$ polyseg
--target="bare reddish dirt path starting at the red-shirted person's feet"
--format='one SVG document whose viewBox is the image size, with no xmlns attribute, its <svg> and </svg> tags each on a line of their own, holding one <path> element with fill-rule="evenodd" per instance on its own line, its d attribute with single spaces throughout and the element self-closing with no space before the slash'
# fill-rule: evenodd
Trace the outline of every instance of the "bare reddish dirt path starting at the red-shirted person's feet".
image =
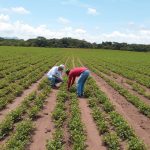
<svg viewBox="0 0 150 150">
<path fill-rule="evenodd" d="M 87 99 L 80 98 L 79 107 L 81 110 L 81 120 L 84 123 L 87 132 L 87 149 L 105 150 L 106 148 L 102 145 L 102 139 L 91 116 L 91 110 L 88 107 Z"/>
</svg>

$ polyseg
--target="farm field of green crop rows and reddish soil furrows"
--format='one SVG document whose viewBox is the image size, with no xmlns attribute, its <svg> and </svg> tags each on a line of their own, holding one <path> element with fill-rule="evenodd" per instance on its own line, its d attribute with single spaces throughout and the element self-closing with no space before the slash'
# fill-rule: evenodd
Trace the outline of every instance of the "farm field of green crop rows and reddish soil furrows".
<svg viewBox="0 0 150 150">
<path fill-rule="evenodd" d="M 48 70 L 85 66 L 85 98 Z M 1 150 L 149 150 L 150 53 L 0 47 Z"/>
</svg>

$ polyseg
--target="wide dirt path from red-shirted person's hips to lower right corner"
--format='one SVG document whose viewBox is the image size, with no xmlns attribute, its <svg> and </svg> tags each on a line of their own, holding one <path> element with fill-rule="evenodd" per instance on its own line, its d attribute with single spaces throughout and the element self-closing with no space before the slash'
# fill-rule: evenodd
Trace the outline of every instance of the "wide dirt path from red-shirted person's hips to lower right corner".
<svg viewBox="0 0 150 150">
<path fill-rule="evenodd" d="M 136 134 L 150 146 L 150 119 L 142 115 L 137 108 L 129 103 L 123 96 L 109 86 L 102 78 L 91 73 L 100 89 L 106 93 L 110 101 L 128 123 L 134 128 Z"/>
</svg>

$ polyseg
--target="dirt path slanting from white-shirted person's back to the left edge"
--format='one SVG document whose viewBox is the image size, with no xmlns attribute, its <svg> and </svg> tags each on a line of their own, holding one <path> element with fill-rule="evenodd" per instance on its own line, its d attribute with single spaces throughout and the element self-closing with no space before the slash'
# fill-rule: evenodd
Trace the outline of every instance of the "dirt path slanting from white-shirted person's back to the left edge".
<svg viewBox="0 0 150 150">
<path fill-rule="evenodd" d="M 37 89 L 38 84 L 41 82 L 41 80 L 44 77 L 45 77 L 45 75 L 40 80 L 38 80 L 36 83 L 33 83 L 28 89 L 24 90 L 22 95 L 17 97 L 16 99 L 14 99 L 14 101 L 12 103 L 8 104 L 5 109 L 0 111 L 0 122 L 6 117 L 6 115 L 10 111 L 12 111 L 15 108 L 17 108 L 28 94 L 30 94 L 31 92 L 33 92 L 33 91 L 35 91 Z"/>
</svg>

